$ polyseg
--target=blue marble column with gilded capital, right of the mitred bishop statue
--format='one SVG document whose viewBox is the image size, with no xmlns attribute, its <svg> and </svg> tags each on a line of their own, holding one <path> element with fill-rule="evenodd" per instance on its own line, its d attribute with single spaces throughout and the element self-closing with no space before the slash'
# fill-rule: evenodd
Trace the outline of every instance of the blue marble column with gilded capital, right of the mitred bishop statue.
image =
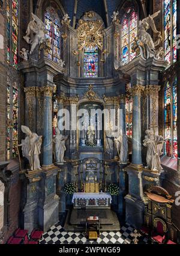
<svg viewBox="0 0 180 256">
<path fill-rule="evenodd" d="M 53 166 L 52 159 L 52 94 L 55 87 L 40 87 L 44 93 L 44 131 L 43 131 L 43 167 L 48 169 Z"/>
</svg>

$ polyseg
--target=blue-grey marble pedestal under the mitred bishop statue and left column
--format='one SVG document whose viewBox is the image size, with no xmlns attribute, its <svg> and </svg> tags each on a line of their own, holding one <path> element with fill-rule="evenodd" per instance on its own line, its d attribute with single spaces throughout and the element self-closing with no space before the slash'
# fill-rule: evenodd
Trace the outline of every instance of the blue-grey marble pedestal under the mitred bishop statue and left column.
<svg viewBox="0 0 180 256">
<path fill-rule="evenodd" d="M 59 196 L 56 195 L 58 168 L 23 172 L 20 226 L 28 229 L 40 228 L 46 232 L 59 220 Z"/>
</svg>

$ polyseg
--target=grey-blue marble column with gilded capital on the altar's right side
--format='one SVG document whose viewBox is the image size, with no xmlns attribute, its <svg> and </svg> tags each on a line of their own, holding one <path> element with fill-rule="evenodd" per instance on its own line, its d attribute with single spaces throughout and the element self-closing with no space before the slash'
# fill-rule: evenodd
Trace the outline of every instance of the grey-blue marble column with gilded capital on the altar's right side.
<svg viewBox="0 0 180 256">
<path fill-rule="evenodd" d="M 133 95 L 133 151 L 132 165 L 142 166 L 142 138 L 141 138 L 141 93 L 143 86 L 137 85 L 131 88 Z"/>
</svg>

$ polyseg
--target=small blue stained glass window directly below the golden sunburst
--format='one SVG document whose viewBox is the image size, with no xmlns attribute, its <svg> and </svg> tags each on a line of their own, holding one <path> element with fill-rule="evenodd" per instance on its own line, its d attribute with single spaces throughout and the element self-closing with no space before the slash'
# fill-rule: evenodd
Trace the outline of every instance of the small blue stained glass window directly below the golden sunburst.
<svg viewBox="0 0 180 256">
<path fill-rule="evenodd" d="M 98 77 L 98 47 L 84 50 L 84 76 Z"/>
</svg>

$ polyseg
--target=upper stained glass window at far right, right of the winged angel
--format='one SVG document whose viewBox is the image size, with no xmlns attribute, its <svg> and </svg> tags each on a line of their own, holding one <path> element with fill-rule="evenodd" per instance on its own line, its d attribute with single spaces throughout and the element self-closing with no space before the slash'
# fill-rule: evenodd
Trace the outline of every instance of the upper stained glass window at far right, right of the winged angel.
<svg viewBox="0 0 180 256">
<path fill-rule="evenodd" d="M 176 61 L 176 0 L 164 0 L 164 57 L 172 64 Z"/>
</svg>

